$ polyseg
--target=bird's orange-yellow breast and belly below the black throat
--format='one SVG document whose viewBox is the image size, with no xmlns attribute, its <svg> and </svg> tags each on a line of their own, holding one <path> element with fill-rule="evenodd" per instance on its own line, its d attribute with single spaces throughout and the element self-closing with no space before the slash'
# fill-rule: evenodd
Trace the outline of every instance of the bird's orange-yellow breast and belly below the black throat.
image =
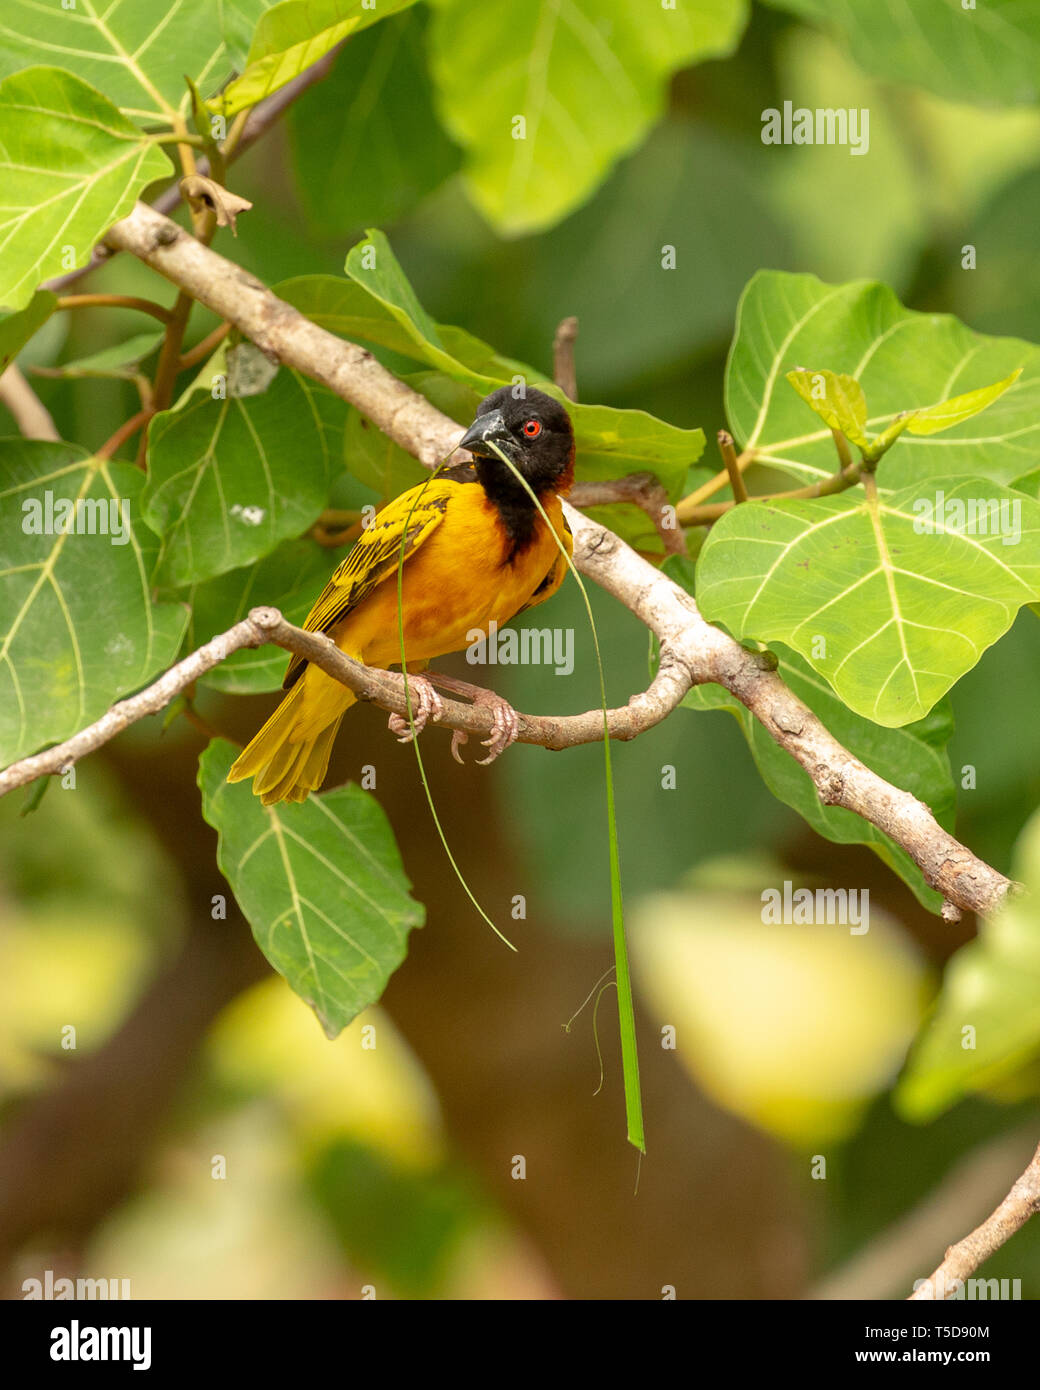
<svg viewBox="0 0 1040 1390">
<path fill-rule="evenodd" d="M 542 500 L 556 535 L 570 550 L 559 498 Z M 498 510 L 478 482 L 459 484 L 439 525 L 405 562 L 405 651 L 409 663 L 457 652 L 487 634 L 491 621 L 507 623 L 531 602 L 551 571 L 538 602 L 559 588 L 564 563 L 556 538 L 541 517 L 533 542 L 512 559 Z M 398 577 L 391 574 L 334 630 L 336 644 L 368 666 L 400 662 Z"/>
</svg>

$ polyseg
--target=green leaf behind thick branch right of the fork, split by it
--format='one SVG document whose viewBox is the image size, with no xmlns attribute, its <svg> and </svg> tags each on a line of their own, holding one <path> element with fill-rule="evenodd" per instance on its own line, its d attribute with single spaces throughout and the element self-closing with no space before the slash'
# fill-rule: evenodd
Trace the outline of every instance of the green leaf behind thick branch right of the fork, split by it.
<svg viewBox="0 0 1040 1390">
<path fill-rule="evenodd" d="M 670 559 L 666 569 L 674 580 L 692 591 L 688 562 L 677 563 Z M 945 746 L 954 731 L 954 720 L 947 701 L 940 701 L 926 719 L 905 728 L 881 728 L 880 724 L 854 714 L 801 656 L 783 648 L 776 655 L 784 682 L 819 716 L 838 742 L 879 776 L 923 801 L 939 823 L 952 830 L 955 798 Z M 726 709 L 734 714 L 762 780 L 774 796 L 794 808 L 824 838 L 841 845 L 869 845 L 879 859 L 909 884 L 926 908 L 940 910 L 941 894 L 929 888 L 907 851 L 862 816 L 843 806 L 824 806 L 805 769 L 769 737 L 734 695 L 722 685 L 697 685 L 685 696 L 683 706 Z"/>
</svg>

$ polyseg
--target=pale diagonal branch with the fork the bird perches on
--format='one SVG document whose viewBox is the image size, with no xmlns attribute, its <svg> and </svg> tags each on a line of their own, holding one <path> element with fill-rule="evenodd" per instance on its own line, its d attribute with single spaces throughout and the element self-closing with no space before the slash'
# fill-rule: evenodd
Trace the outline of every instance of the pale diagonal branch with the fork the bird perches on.
<svg viewBox="0 0 1040 1390">
<path fill-rule="evenodd" d="M 133 253 L 178 289 L 227 318 L 273 361 L 288 363 L 357 406 L 378 430 L 427 467 L 439 463 L 457 443 L 460 427 L 387 371 L 370 352 L 304 318 L 252 274 L 203 246 L 154 208 L 139 203 L 129 217 L 113 227 L 108 242 Z M 1008 878 L 943 830 L 927 806 L 870 771 L 843 748 L 784 685 L 765 657 L 745 651 L 705 623 L 692 598 L 619 537 L 571 506 L 566 506 L 566 516 L 574 534 L 577 567 L 635 613 L 662 645 L 662 666 L 649 689 L 633 696 L 626 709 L 610 713 L 615 737 L 631 738 L 658 723 L 674 709 L 691 684 L 717 681 L 805 769 L 823 805 L 844 806 L 883 830 L 911 855 L 926 881 L 948 903 L 986 913 L 1001 902 L 1011 887 Z M 281 635 L 285 637 L 289 630 L 291 624 L 285 624 Z M 250 642 L 242 645 L 252 645 L 254 635 L 256 630 L 250 632 Z M 331 669 L 328 663 L 346 662 L 331 644 L 321 645 L 323 639 L 316 634 L 302 634 L 293 641 L 303 637 L 318 644 L 314 655 L 304 649 L 309 659 L 352 688 L 361 688 L 355 685 L 355 680 L 360 682 L 359 673 L 348 673 L 348 667 L 339 664 Z M 220 659 L 216 657 L 214 664 Z M 203 664 L 196 674 L 207 669 Z M 368 698 L 378 698 L 385 708 L 403 713 L 400 677 L 387 674 L 380 680 L 384 678 L 395 682 L 393 687 L 382 684 L 377 692 L 373 685 Z M 367 671 L 364 680 L 377 677 Z M 400 703 L 395 705 L 393 699 Z M 457 702 L 445 703 L 442 723 L 466 733 L 489 733 L 484 710 Z M 520 737 L 546 748 L 566 748 L 598 738 L 601 731 L 602 712 L 590 710 L 548 720 L 524 716 Z M 54 752 L 38 756 L 53 759 Z M 32 776 L 39 773 L 29 773 L 29 778 Z"/>
</svg>

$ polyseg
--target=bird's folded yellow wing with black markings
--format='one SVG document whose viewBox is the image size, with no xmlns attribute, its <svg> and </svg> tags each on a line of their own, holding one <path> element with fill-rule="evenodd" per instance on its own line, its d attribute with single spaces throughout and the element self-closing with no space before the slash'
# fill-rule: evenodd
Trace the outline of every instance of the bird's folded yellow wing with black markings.
<svg viewBox="0 0 1040 1390">
<path fill-rule="evenodd" d="M 444 520 L 448 500 L 456 486 L 457 484 L 439 478 L 425 485 L 420 484 L 402 492 L 377 512 L 373 524 L 361 531 L 350 553 L 336 567 L 303 627 L 309 632 L 330 632 L 336 623 L 352 613 L 377 584 L 396 573 L 402 539 L 407 563 Z M 282 689 L 296 684 L 306 664 L 304 656 L 292 657 Z"/>
</svg>

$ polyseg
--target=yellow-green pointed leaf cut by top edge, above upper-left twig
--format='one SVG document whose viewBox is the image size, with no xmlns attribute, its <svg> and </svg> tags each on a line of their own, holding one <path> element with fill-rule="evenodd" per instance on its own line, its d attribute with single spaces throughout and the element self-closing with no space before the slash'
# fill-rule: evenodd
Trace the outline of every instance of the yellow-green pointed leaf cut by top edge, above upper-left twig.
<svg viewBox="0 0 1040 1390">
<path fill-rule="evenodd" d="M 224 115 L 256 106 L 349 35 L 412 4 L 414 0 L 380 0 L 378 7 L 366 0 L 282 0 L 260 18 L 242 76 L 210 106 Z"/>
</svg>

